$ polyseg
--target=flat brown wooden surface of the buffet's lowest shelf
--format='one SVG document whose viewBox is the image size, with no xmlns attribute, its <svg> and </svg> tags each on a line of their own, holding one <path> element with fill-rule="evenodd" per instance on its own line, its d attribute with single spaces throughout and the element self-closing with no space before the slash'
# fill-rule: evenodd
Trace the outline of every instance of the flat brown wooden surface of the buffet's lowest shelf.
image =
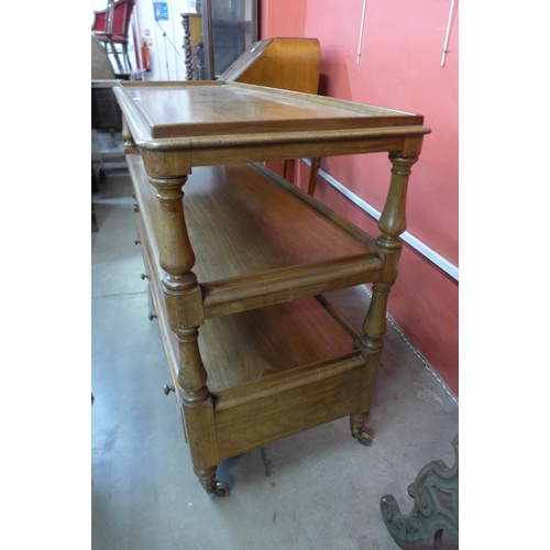
<svg viewBox="0 0 550 550">
<path fill-rule="evenodd" d="M 316 298 L 208 319 L 199 329 L 199 349 L 215 396 L 358 353 L 354 338 Z"/>
</svg>

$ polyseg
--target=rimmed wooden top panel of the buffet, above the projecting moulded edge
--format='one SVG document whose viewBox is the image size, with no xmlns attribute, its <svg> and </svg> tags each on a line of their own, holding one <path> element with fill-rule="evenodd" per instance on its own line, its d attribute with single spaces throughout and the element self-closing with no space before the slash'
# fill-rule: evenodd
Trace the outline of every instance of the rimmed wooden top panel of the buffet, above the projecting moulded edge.
<svg viewBox="0 0 550 550">
<path fill-rule="evenodd" d="M 151 139 L 422 124 L 424 117 L 322 96 L 224 81 L 121 82 Z M 123 108 L 124 109 L 124 108 Z"/>
</svg>

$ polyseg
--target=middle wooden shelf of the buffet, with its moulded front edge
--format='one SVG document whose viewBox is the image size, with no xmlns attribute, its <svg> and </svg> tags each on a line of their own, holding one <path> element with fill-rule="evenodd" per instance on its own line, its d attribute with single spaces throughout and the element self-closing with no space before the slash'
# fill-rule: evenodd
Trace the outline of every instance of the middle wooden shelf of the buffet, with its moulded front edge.
<svg viewBox="0 0 550 550">
<path fill-rule="evenodd" d="M 161 213 L 139 155 L 128 155 L 153 256 Z M 372 282 L 375 241 L 261 165 L 195 168 L 184 186 L 205 318 Z"/>
</svg>

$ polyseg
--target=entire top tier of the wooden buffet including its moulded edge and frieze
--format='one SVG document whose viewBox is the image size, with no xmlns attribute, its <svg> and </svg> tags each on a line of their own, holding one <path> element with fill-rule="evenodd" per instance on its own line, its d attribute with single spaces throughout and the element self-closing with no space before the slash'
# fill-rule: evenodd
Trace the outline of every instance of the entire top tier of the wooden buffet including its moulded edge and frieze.
<svg viewBox="0 0 550 550">
<path fill-rule="evenodd" d="M 430 131 L 419 114 L 240 82 L 129 81 L 114 94 L 142 154 L 178 153 L 169 176 L 191 166 L 400 152 Z M 169 177 L 144 160 L 153 163 L 147 172 Z"/>
</svg>

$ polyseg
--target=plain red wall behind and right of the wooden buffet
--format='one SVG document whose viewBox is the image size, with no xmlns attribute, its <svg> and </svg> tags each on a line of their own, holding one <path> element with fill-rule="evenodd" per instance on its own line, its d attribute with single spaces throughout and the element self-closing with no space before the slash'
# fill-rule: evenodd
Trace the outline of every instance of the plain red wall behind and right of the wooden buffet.
<svg viewBox="0 0 550 550">
<path fill-rule="evenodd" d="M 455 2 L 458 4 L 458 2 Z M 261 38 L 316 37 L 321 44 L 319 92 L 425 116 L 431 134 L 410 176 L 407 231 L 458 266 L 459 133 L 458 6 L 446 64 L 441 57 L 451 0 L 260 0 Z M 387 155 L 323 158 L 321 168 L 383 209 Z M 308 167 L 299 163 L 298 185 Z M 316 198 L 369 232 L 376 222 L 322 178 Z M 388 314 L 447 387 L 459 395 L 459 285 L 405 244 Z"/>
</svg>

